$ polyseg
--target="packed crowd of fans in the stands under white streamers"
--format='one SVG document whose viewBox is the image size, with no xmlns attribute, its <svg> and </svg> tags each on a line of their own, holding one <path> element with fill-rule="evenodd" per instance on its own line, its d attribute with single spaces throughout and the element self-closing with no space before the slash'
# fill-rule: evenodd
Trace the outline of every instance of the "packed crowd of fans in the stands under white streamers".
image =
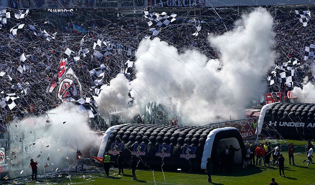
<svg viewBox="0 0 315 185">
<path fill-rule="evenodd" d="M 174 45 L 179 51 L 185 49 L 198 49 L 201 53 L 209 58 L 217 58 L 220 51 L 211 47 L 208 42 L 209 34 L 223 34 L 232 29 L 234 19 L 237 16 L 227 16 L 226 19 L 214 20 L 212 17 L 199 17 L 204 20 L 201 31 L 198 36 L 193 36 L 196 27 L 192 17 L 180 19 L 160 30 L 158 37 Z M 18 30 L 17 35 L 13 39 L 10 38 L 10 29 L 18 24 L 25 24 L 25 31 Z M 89 49 L 86 57 L 81 57 L 79 61 L 68 58 L 67 66 L 72 67 L 77 76 L 82 79 L 80 82 L 83 88 L 83 96 L 95 95 L 90 90 L 95 86 L 93 80 L 89 76 L 89 71 L 97 68 L 100 64 L 106 64 L 108 70 L 105 74 L 104 84 L 109 83 L 110 79 L 125 69 L 125 62 L 129 59 L 122 51 L 112 51 L 110 55 L 101 59 L 92 58 L 93 42 L 98 38 L 105 40 L 114 40 L 130 48 L 137 48 L 138 44 L 146 35 L 150 35 L 149 27 L 142 17 L 125 18 L 121 17 L 117 20 L 109 21 L 105 19 L 89 20 L 86 22 L 73 22 L 81 25 L 87 30 L 87 36 L 84 39 L 83 47 Z M 222 25 L 225 26 L 222 26 Z M 309 22 L 313 24 L 312 19 Z M 29 25 L 39 29 L 46 30 L 49 34 L 57 32 L 57 36 L 50 42 L 43 36 L 36 36 Z M 72 49 L 75 53 L 80 50 L 80 41 L 82 35 L 73 32 L 67 33 L 65 30 L 59 30 L 55 25 L 47 21 L 32 21 L 26 16 L 24 19 L 14 19 L 13 16 L 7 19 L 7 24 L 3 24 L 0 30 L 0 72 L 5 72 L 4 76 L 0 76 L 0 92 L 16 93 L 20 96 L 20 104 L 14 110 L 14 116 L 24 117 L 27 114 L 38 114 L 43 110 L 52 109 L 59 102 L 53 93 L 47 93 L 49 83 L 55 79 L 58 72 L 58 66 L 63 53 L 67 48 Z M 275 17 L 275 45 L 271 48 L 278 53 L 275 64 L 281 64 L 288 61 L 291 57 L 301 60 L 302 64 L 308 63 L 303 60 L 304 47 L 308 43 L 314 41 L 314 30 L 312 26 L 303 27 L 301 23 L 295 19 L 293 14 L 282 12 Z M 134 52 L 134 51 L 133 51 Z M 25 53 L 28 59 L 21 62 L 20 57 Z M 19 66 L 27 64 L 22 72 L 18 71 Z M 310 65 L 301 65 L 297 69 L 297 76 L 300 84 L 304 76 L 312 77 Z M 273 66 L 270 66 L 271 68 Z M 133 78 L 131 72 L 129 79 Z M 312 79 L 311 79 L 312 80 Z M 281 88 L 279 84 L 275 84 L 270 89 L 276 90 Z M 26 111 L 25 111 L 26 110 Z M 12 111 L 0 109 L 1 119 L 7 119 L 7 115 L 13 115 Z"/>
</svg>

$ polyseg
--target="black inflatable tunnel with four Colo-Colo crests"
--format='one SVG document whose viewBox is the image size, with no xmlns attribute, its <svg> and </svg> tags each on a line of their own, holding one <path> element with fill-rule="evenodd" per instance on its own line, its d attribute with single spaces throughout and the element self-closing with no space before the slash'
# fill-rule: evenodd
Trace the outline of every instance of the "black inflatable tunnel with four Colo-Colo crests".
<svg viewBox="0 0 315 185">
<path fill-rule="evenodd" d="M 231 144 L 245 149 L 242 136 L 234 127 L 123 124 L 106 130 L 98 157 L 108 152 L 115 166 L 122 152 L 124 167 L 129 167 L 131 156 L 136 156 L 140 169 L 161 169 L 163 165 L 169 171 L 198 171 L 206 168 L 208 157 L 215 160 Z M 234 162 L 241 160 L 239 150 Z"/>
</svg>

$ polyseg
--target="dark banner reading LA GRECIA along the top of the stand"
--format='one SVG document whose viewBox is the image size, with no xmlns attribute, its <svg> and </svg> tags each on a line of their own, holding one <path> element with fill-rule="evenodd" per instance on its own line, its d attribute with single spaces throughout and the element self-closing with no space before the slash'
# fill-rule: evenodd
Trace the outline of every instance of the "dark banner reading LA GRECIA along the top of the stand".
<svg viewBox="0 0 315 185">
<path fill-rule="evenodd" d="M 205 0 L 148 0 L 149 6 L 166 8 L 166 7 L 202 7 L 205 6 Z"/>
</svg>

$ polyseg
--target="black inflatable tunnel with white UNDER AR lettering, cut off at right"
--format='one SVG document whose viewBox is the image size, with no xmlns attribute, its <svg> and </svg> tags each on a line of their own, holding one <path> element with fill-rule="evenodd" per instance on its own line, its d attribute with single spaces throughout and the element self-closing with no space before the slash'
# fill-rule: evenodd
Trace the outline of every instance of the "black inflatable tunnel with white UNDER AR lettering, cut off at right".
<svg viewBox="0 0 315 185">
<path fill-rule="evenodd" d="M 272 103 L 262 107 L 256 135 L 280 139 L 313 140 L 315 104 Z"/>
</svg>

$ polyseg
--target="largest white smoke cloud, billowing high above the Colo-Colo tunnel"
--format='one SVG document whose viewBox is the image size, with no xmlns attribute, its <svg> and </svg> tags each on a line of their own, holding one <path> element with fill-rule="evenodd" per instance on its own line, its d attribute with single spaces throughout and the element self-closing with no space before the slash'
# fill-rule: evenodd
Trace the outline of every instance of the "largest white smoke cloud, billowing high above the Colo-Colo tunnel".
<svg viewBox="0 0 315 185">
<path fill-rule="evenodd" d="M 263 8 L 235 23 L 235 29 L 220 36 L 210 36 L 209 42 L 221 50 L 219 59 L 209 60 L 194 50 L 179 54 L 159 38 L 144 39 L 137 50 L 135 61 L 136 78 L 130 82 L 135 90 L 135 105 L 132 110 L 143 110 L 149 102 L 170 108 L 176 104 L 187 122 L 207 123 L 220 116 L 229 119 L 240 115 L 253 98 L 265 91 L 261 79 L 273 65 L 269 48 L 273 44 L 273 19 Z M 117 76 L 118 79 L 121 76 Z M 114 82 L 117 84 L 115 85 Z M 119 82 L 119 83 L 118 83 Z M 124 94 L 128 89 L 122 80 L 113 79 L 101 97 Z M 129 88 L 130 89 L 130 88 Z M 108 105 L 108 100 L 97 101 L 99 107 L 126 107 L 127 96 L 119 103 Z M 129 113 L 134 113 L 129 111 Z"/>
</svg>

